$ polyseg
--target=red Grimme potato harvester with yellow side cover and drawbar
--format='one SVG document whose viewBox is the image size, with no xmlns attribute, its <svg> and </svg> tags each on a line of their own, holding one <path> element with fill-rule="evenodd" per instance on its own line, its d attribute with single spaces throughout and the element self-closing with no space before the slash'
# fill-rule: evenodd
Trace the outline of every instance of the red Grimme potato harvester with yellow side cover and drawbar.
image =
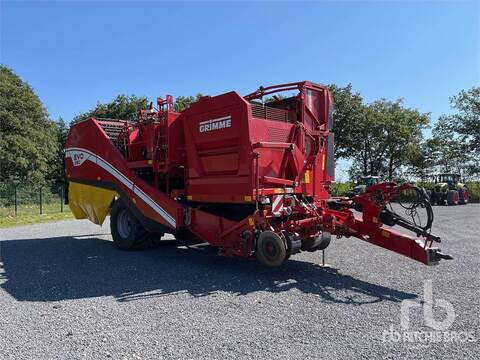
<svg viewBox="0 0 480 360">
<path fill-rule="evenodd" d="M 274 93 L 294 93 L 280 97 Z M 264 96 L 270 100 L 263 102 Z M 328 88 L 303 81 L 240 96 L 204 96 L 173 111 L 173 99 L 135 121 L 90 118 L 70 128 L 68 202 L 76 218 L 102 224 L 110 212 L 124 250 L 165 233 L 202 241 L 225 256 L 279 266 L 331 236 L 356 237 L 427 265 L 451 259 L 432 247 L 433 213 L 423 189 L 380 183 L 332 198 L 334 134 Z M 416 193 L 400 216 L 392 200 Z M 400 207 L 401 208 L 401 207 Z M 424 223 L 418 210 L 426 212 Z M 392 229 L 402 226 L 415 235 Z"/>
</svg>

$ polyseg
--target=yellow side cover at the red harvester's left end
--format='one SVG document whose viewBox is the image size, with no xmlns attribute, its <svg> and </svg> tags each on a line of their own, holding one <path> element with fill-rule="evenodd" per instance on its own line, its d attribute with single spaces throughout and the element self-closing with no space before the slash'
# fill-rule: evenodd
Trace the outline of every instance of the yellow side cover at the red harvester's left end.
<svg viewBox="0 0 480 360">
<path fill-rule="evenodd" d="M 76 219 L 89 219 L 102 225 L 116 194 L 114 190 L 71 182 L 68 186 L 68 205 Z"/>
</svg>

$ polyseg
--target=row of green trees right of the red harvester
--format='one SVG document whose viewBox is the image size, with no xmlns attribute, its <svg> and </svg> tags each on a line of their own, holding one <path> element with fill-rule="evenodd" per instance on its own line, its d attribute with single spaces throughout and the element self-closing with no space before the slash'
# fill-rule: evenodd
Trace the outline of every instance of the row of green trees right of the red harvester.
<svg viewBox="0 0 480 360">
<path fill-rule="evenodd" d="M 438 172 L 480 173 L 480 87 L 450 98 L 452 115 L 431 125 L 430 114 L 407 108 L 401 99 L 366 104 L 352 86 L 331 90 L 335 105 L 337 159 L 348 159 L 351 178 L 426 180 Z M 431 136 L 424 136 L 431 129 Z"/>
</svg>

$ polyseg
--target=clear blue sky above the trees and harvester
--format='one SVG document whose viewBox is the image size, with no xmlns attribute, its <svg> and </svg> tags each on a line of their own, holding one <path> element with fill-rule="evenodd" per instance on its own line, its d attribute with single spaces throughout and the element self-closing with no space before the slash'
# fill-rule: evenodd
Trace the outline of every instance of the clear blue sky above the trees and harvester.
<svg viewBox="0 0 480 360">
<path fill-rule="evenodd" d="M 1 2 L 1 63 L 69 121 L 117 94 L 310 79 L 449 112 L 480 84 L 480 2 Z"/>
</svg>

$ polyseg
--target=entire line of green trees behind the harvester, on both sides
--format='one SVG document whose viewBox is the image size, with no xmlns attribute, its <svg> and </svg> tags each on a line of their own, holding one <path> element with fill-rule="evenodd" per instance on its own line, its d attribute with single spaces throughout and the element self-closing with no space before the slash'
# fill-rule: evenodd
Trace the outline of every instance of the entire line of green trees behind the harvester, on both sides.
<svg viewBox="0 0 480 360">
<path fill-rule="evenodd" d="M 452 115 L 431 126 L 430 114 L 405 107 L 402 100 L 365 103 L 352 85 L 331 85 L 334 97 L 336 158 L 351 163 L 351 178 L 379 175 L 386 180 L 424 179 L 435 172 L 480 174 L 480 87 L 451 98 Z M 179 96 L 182 111 L 202 94 Z M 119 95 L 112 102 L 71 119 L 134 119 L 148 99 Z M 27 185 L 64 182 L 64 144 L 69 125 L 51 119 L 34 90 L 11 69 L 0 66 L 0 182 Z"/>
</svg>

